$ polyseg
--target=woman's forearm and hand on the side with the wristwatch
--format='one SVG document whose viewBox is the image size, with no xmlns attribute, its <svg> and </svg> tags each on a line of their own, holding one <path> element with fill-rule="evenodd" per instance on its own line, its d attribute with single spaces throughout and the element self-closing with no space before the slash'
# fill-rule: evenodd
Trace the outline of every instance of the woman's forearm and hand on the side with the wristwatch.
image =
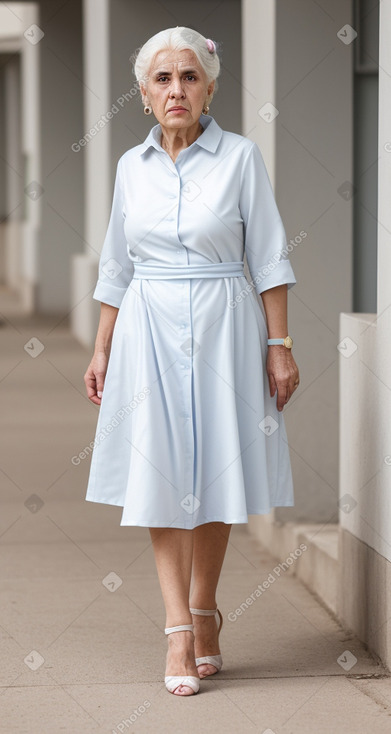
<svg viewBox="0 0 391 734">
<path fill-rule="evenodd" d="M 260 293 L 265 307 L 268 338 L 288 335 L 288 287 L 287 284 L 268 288 Z M 299 370 L 292 350 L 283 344 L 269 344 L 266 360 L 270 395 L 277 390 L 277 409 L 282 410 L 299 382 Z M 295 385 L 296 383 L 296 385 Z"/>
</svg>

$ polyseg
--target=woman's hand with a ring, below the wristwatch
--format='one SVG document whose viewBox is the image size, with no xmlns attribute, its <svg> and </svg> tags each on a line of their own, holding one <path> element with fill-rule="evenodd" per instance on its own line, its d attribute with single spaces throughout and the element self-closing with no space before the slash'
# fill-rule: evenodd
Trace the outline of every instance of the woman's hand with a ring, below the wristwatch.
<svg viewBox="0 0 391 734">
<path fill-rule="evenodd" d="M 266 372 L 270 395 L 277 390 L 277 409 L 282 410 L 299 384 L 299 370 L 290 349 L 283 344 L 268 346 Z"/>
</svg>

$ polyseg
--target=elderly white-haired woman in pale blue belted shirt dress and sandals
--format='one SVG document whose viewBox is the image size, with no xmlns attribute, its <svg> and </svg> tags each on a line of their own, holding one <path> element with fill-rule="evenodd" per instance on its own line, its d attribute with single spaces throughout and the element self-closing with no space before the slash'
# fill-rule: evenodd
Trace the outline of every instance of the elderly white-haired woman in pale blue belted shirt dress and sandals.
<svg viewBox="0 0 391 734">
<path fill-rule="evenodd" d="M 216 44 L 168 28 L 134 71 L 158 124 L 117 165 L 84 376 L 100 405 L 86 499 L 149 528 L 165 683 L 189 695 L 222 666 L 216 589 L 232 524 L 294 504 L 282 410 L 299 384 L 296 279 L 258 146 L 208 114 Z"/>
</svg>

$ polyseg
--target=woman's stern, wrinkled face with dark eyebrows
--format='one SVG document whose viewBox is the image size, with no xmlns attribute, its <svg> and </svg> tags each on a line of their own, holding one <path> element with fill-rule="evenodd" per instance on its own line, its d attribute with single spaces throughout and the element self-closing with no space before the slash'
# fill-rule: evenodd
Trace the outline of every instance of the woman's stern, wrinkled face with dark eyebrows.
<svg viewBox="0 0 391 734">
<path fill-rule="evenodd" d="M 190 49 L 159 51 L 147 84 L 140 82 L 143 101 L 167 128 L 187 128 L 197 122 L 213 87 L 214 81 L 208 86 L 206 74 Z"/>
</svg>

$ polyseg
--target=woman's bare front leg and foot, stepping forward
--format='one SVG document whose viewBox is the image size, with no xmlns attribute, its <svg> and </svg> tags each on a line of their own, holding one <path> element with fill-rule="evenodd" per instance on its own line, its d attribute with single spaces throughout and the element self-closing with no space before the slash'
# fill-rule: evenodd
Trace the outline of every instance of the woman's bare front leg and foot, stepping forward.
<svg viewBox="0 0 391 734">
<path fill-rule="evenodd" d="M 193 554 L 193 530 L 180 528 L 149 528 L 160 588 L 166 608 L 166 627 L 192 624 L 189 592 Z M 166 675 L 194 675 L 194 635 L 189 630 L 167 636 Z M 189 686 L 179 686 L 176 695 L 190 695 Z"/>
</svg>

